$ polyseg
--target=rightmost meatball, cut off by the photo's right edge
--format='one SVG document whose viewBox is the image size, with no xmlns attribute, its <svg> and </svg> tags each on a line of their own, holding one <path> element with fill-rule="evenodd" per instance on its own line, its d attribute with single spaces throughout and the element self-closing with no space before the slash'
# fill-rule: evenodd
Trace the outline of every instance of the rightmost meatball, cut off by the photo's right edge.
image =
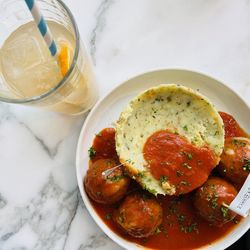
<svg viewBox="0 0 250 250">
<path fill-rule="evenodd" d="M 243 137 L 226 139 L 218 171 L 232 183 L 242 185 L 250 173 L 250 140 Z"/>
</svg>

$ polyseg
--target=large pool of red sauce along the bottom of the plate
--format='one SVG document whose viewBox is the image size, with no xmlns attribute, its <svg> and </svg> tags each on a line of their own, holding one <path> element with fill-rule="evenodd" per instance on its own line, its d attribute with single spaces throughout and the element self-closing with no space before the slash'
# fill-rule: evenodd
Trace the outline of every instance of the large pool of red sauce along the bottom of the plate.
<svg viewBox="0 0 250 250">
<path fill-rule="evenodd" d="M 105 224 L 120 237 L 150 249 L 181 250 L 204 247 L 219 240 L 236 226 L 239 218 L 223 227 L 210 226 L 195 214 L 192 195 L 180 198 L 157 198 L 163 207 L 163 224 L 159 232 L 147 239 L 136 239 L 123 232 L 112 220 L 112 212 L 116 206 L 104 206 L 91 201 L 95 211 Z"/>
</svg>

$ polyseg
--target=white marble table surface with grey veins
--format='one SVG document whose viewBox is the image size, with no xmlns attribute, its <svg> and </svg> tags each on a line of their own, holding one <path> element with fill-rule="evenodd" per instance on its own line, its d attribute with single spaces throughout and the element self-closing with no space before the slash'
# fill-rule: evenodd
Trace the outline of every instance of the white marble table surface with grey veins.
<svg viewBox="0 0 250 250">
<path fill-rule="evenodd" d="M 100 95 L 132 75 L 185 68 L 250 104 L 249 0 L 65 0 Z M 86 116 L 0 104 L 0 249 L 120 249 L 78 192 L 75 153 Z"/>
</svg>

